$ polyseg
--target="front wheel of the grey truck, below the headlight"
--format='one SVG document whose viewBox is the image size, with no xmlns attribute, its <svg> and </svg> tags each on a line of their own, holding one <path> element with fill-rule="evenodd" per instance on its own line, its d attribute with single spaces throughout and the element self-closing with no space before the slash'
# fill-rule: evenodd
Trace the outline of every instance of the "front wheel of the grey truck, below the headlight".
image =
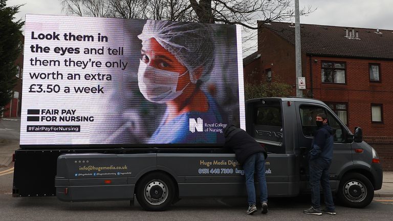
<svg viewBox="0 0 393 221">
<path fill-rule="evenodd" d="M 360 173 L 348 173 L 340 181 L 338 197 L 347 207 L 363 208 L 373 201 L 374 186 Z"/>
</svg>

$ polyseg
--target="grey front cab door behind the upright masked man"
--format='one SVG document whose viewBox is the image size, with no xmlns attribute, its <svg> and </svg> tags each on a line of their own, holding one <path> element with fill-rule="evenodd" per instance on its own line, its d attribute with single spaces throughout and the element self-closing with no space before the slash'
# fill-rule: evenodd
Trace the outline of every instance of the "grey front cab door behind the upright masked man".
<svg viewBox="0 0 393 221">
<path fill-rule="evenodd" d="M 340 171 L 348 164 L 353 164 L 351 143 L 347 142 L 346 139 L 346 135 L 349 131 L 327 106 L 310 104 L 307 102 L 296 102 L 296 109 L 298 118 L 298 146 L 295 146 L 295 148 L 300 148 L 300 180 L 308 181 L 309 179 L 308 153 L 317 129 L 315 119 L 317 114 L 324 113 L 328 116 L 329 125 L 334 129 L 334 149 L 332 164 L 330 166 L 330 180 L 332 190 L 335 190 L 338 188 L 338 176 Z"/>
</svg>

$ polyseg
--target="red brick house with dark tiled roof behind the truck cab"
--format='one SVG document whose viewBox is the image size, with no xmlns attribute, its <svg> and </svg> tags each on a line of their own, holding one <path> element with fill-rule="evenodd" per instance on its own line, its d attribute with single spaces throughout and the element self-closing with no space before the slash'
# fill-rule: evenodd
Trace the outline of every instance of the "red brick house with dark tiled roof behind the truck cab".
<svg viewBox="0 0 393 221">
<path fill-rule="evenodd" d="M 244 58 L 245 81 L 295 84 L 295 27 L 258 23 L 258 50 Z M 304 97 L 322 100 L 393 170 L 393 30 L 301 24 Z"/>
</svg>

